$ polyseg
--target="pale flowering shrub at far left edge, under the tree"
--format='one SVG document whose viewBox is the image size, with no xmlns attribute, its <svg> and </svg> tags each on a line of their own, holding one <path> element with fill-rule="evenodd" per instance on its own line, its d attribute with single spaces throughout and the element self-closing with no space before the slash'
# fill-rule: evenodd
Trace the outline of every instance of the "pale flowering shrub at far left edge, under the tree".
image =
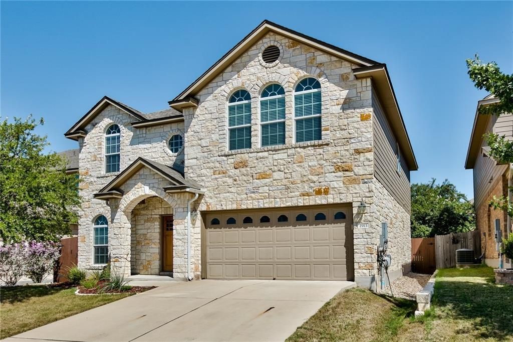
<svg viewBox="0 0 513 342">
<path fill-rule="evenodd" d="M 26 248 L 23 243 L 0 246 L 0 280 L 14 286 L 26 271 Z"/>
</svg>

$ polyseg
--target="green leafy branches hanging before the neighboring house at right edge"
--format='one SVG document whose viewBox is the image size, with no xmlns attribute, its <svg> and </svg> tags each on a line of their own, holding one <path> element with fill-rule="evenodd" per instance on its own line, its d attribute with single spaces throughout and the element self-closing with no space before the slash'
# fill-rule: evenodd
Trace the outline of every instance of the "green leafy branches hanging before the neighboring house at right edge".
<svg viewBox="0 0 513 342">
<path fill-rule="evenodd" d="M 468 59 L 466 62 L 468 75 L 476 88 L 485 89 L 499 99 L 499 102 L 480 106 L 479 114 L 500 117 L 513 113 L 513 74 L 508 75 L 501 72 L 495 62 L 483 63 L 478 55 L 473 60 Z M 485 134 L 484 139 L 490 147 L 490 157 L 501 163 L 513 163 L 513 141 L 508 141 L 504 136 L 493 132 Z M 509 190 L 512 189 L 509 188 Z M 507 196 L 494 196 L 490 204 L 496 209 L 505 211 L 509 217 L 513 217 L 513 204 Z"/>
</svg>

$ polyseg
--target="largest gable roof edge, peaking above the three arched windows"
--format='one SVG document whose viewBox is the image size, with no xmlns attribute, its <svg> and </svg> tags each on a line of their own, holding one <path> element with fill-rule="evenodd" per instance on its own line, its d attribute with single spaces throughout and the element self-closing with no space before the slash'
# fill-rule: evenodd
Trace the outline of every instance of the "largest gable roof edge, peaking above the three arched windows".
<svg viewBox="0 0 513 342">
<path fill-rule="evenodd" d="M 368 58 L 365 58 L 364 56 L 341 49 L 339 47 L 325 43 L 303 33 L 275 24 L 268 20 L 264 20 L 259 26 L 257 26 L 251 32 L 249 32 L 249 34 L 246 35 L 238 44 L 236 44 L 224 56 L 222 56 L 221 59 L 215 62 L 210 68 L 208 68 L 207 71 L 205 71 L 198 79 L 196 79 L 192 84 L 190 84 L 184 91 L 178 94 L 178 96 L 176 96 L 173 100 L 169 101 L 170 106 L 174 107 L 176 103 L 181 103 L 185 99 L 193 98 L 195 94 L 200 89 L 202 89 L 206 84 L 208 84 L 208 82 L 214 79 L 216 75 L 219 74 L 219 72 L 224 70 L 234 60 L 239 58 L 239 56 L 242 53 L 244 53 L 249 47 L 251 47 L 257 41 L 259 41 L 269 31 L 279 33 L 292 40 L 301 42 L 303 44 L 309 45 L 313 48 L 319 49 L 331 55 L 335 55 L 342 59 L 351 61 L 362 67 L 379 64 L 379 62 L 370 60 Z M 176 109 L 180 110 L 179 107 L 176 107 Z"/>
</svg>

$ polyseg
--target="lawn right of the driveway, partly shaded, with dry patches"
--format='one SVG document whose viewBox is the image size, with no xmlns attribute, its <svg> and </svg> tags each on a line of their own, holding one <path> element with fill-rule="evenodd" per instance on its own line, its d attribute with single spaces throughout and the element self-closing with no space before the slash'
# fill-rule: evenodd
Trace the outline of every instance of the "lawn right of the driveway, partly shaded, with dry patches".
<svg viewBox="0 0 513 342">
<path fill-rule="evenodd" d="M 288 340 L 513 341 L 513 286 L 494 271 L 440 270 L 432 308 L 416 318 L 416 303 L 353 289 L 328 301 Z"/>
</svg>

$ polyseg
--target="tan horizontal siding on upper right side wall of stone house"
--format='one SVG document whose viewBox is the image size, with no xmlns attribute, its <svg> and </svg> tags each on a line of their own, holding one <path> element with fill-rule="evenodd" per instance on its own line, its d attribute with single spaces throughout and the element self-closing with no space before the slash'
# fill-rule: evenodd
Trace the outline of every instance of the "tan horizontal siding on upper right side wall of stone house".
<svg viewBox="0 0 513 342">
<path fill-rule="evenodd" d="M 374 140 L 374 176 L 409 213 L 411 208 L 410 173 L 400 151 L 401 170 L 397 172 L 397 140 L 386 119 L 376 92 L 372 91 L 372 136 Z"/>
</svg>

